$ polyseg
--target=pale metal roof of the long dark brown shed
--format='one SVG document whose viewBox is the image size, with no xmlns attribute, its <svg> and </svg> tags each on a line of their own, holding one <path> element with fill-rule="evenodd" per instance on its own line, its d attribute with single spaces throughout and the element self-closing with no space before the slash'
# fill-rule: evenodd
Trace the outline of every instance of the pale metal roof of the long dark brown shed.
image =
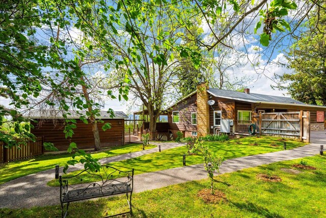
<svg viewBox="0 0 326 218">
<path fill-rule="evenodd" d="M 74 111 L 74 110 L 68 110 L 70 114 L 67 114 L 68 118 L 79 118 L 80 115 L 86 115 L 86 111 Z M 100 119 L 124 119 L 128 118 L 128 116 L 122 112 L 122 111 L 114 111 L 114 117 L 110 117 L 110 113 L 107 113 L 107 111 L 100 111 L 100 116 L 97 116 L 96 118 Z M 26 118 L 42 118 L 42 119 L 62 119 L 62 111 L 61 110 L 29 110 L 26 115 L 24 115 Z"/>
</svg>

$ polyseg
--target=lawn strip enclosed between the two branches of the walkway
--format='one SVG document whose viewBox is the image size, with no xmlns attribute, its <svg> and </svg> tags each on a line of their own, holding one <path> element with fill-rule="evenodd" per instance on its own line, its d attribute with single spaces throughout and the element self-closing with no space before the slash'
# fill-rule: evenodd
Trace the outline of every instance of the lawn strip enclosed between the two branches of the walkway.
<svg viewBox="0 0 326 218">
<path fill-rule="evenodd" d="M 279 146 L 271 146 L 271 144 L 278 144 Z M 231 159 L 242 156 L 263 154 L 269 152 L 276 152 L 283 150 L 283 140 L 279 137 L 246 137 L 240 139 L 231 139 L 224 142 L 205 142 L 209 146 L 211 152 L 216 155 L 222 155 L 225 159 Z M 257 145 L 254 145 L 257 144 Z M 304 146 L 307 143 L 295 140 L 286 139 L 287 149 L 293 149 Z M 182 155 L 187 152 L 185 146 L 174 149 L 156 152 L 144 155 L 137 158 L 127 159 L 119 162 L 111 162 L 108 165 L 116 167 L 121 171 L 128 171 L 134 168 L 135 175 L 161 171 L 164 169 L 175 168 L 182 166 Z M 202 156 L 188 155 L 186 157 L 186 165 L 194 165 L 203 163 Z M 70 173 L 76 175 L 80 171 Z M 84 182 L 91 182 L 94 180 L 84 180 Z M 80 183 L 78 179 L 70 180 L 70 184 Z M 59 186 L 59 182 L 51 180 L 48 182 L 50 186 Z"/>
</svg>

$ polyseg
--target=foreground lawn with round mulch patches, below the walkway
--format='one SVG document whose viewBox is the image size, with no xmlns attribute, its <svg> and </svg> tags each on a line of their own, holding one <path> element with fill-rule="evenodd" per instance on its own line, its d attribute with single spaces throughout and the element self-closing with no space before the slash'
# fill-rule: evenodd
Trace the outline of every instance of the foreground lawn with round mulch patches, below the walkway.
<svg viewBox="0 0 326 218">
<path fill-rule="evenodd" d="M 288 173 L 293 164 L 304 160 L 316 170 L 298 169 Z M 282 161 L 243 169 L 215 177 L 215 188 L 227 200 L 207 204 L 197 193 L 209 187 L 207 179 L 172 185 L 132 195 L 133 217 L 325 217 L 325 156 Z M 265 182 L 257 178 L 266 173 L 279 176 L 281 182 Z M 95 201 L 74 202 L 71 217 L 101 217 L 127 210 L 125 196 Z M 59 217 L 60 206 L 29 209 L 0 209 L 0 217 Z M 129 217 L 129 216 L 128 216 Z"/>
</svg>

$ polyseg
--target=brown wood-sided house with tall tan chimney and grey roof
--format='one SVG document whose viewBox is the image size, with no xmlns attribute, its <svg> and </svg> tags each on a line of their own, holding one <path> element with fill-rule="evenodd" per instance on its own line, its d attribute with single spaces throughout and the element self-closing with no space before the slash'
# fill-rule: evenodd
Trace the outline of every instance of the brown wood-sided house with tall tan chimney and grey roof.
<svg viewBox="0 0 326 218">
<path fill-rule="evenodd" d="M 296 126 L 300 127 L 303 125 L 302 117 L 310 122 L 308 132 L 323 130 L 326 107 L 307 105 L 286 97 L 251 93 L 248 88 L 244 89 L 244 92 L 238 92 L 209 88 L 207 83 L 202 83 L 197 86 L 197 91 L 185 96 L 166 110 L 168 111 L 169 132 L 176 137 L 176 132 L 181 131 L 187 137 L 217 133 L 221 131 L 221 122 L 224 124 L 225 120 L 229 124 L 230 134 L 248 134 L 252 123 L 256 122 L 257 126 L 261 124 L 255 120 L 259 117 L 259 113 L 265 115 L 274 113 L 275 115 L 271 114 L 270 118 L 262 119 L 262 121 L 267 123 L 265 127 L 268 128 L 265 129 L 273 131 L 276 128 L 270 126 L 272 119 L 282 123 L 284 127 L 278 129 L 281 135 L 288 134 L 284 131 L 295 132 L 290 122 L 296 122 Z M 307 114 L 306 111 L 308 111 Z M 288 118 L 287 120 L 282 118 L 281 120 L 281 118 L 276 118 L 280 112 L 283 117 L 284 114 L 290 114 L 290 116 L 295 115 L 301 118 Z M 293 128 L 288 128 L 289 126 Z"/>
</svg>

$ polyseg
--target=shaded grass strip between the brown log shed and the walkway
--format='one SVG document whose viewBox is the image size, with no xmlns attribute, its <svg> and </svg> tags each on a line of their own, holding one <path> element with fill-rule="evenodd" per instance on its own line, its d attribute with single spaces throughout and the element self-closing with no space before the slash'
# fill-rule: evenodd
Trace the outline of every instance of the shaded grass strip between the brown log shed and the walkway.
<svg viewBox="0 0 326 218">
<path fill-rule="evenodd" d="M 155 148 L 154 145 L 146 146 L 146 149 Z M 115 147 L 98 153 L 93 153 L 92 156 L 97 159 L 112 157 L 132 152 L 143 150 L 143 144 L 127 144 L 121 147 Z M 0 184 L 11 181 L 13 179 L 34 174 L 46 169 L 53 169 L 55 165 L 65 165 L 70 160 L 71 154 L 49 154 L 40 155 L 32 159 L 14 161 L 0 165 Z"/>
</svg>

